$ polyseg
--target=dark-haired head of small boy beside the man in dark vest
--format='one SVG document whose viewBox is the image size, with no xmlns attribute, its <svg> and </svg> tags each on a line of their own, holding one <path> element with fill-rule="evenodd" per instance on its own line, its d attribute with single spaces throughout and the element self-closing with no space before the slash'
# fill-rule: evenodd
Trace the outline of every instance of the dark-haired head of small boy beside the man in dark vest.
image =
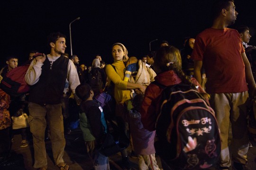
<svg viewBox="0 0 256 170">
<path fill-rule="evenodd" d="M 75 93 L 80 99 L 82 99 L 82 101 L 87 100 L 90 97 L 90 95 L 91 97 L 93 97 L 93 91 L 91 90 L 91 86 L 87 83 L 83 85 L 78 85 L 75 88 Z"/>
</svg>

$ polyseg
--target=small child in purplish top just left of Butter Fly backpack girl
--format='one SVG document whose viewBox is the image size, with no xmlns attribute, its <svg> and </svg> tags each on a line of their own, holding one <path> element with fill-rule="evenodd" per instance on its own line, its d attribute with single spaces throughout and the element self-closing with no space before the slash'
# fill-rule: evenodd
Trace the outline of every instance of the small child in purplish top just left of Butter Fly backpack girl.
<svg viewBox="0 0 256 170">
<path fill-rule="evenodd" d="M 133 148 L 138 157 L 140 170 L 160 170 L 155 160 L 155 131 L 146 130 L 140 121 L 140 107 L 144 95 L 137 94 L 132 100 L 128 123 L 133 140 Z"/>
</svg>

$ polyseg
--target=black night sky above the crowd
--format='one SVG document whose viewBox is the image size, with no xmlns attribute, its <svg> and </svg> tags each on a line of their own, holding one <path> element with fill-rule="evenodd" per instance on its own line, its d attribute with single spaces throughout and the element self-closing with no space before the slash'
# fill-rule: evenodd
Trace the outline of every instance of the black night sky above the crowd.
<svg viewBox="0 0 256 170">
<path fill-rule="evenodd" d="M 31 50 L 49 53 L 46 36 L 62 32 L 67 36 L 66 52 L 70 54 L 69 24 L 73 54 L 80 64 L 91 65 L 97 53 L 112 62 L 111 46 L 123 43 L 128 56 L 142 57 L 159 42 L 167 40 L 181 49 L 183 38 L 196 36 L 211 26 L 212 0 L 4 0 L 0 2 L 0 66 L 5 58 L 16 55 L 19 64 L 28 59 Z M 236 0 L 238 18 L 230 28 L 250 27 L 249 44 L 256 45 L 256 0 Z"/>
</svg>

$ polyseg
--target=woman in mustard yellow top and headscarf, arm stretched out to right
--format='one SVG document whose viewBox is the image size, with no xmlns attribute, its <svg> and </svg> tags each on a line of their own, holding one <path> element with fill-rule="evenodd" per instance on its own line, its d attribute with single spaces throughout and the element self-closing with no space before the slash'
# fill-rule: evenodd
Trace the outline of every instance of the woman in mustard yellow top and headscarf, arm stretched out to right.
<svg viewBox="0 0 256 170">
<path fill-rule="evenodd" d="M 112 56 L 114 62 L 106 66 L 106 73 L 108 76 L 108 85 L 112 81 L 115 84 L 114 97 L 116 104 L 116 119 L 121 133 L 127 132 L 125 118 L 128 116 L 128 110 L 126 104 L 130 97 L 130 89 L 136 90 L 137 93 L 144 93 L 146 86 L 136 83 L 129 83 L 124 81 L 124 61 L 128 59 L 128 51 L 126 47 L 121 43 L 115 43 L 112 45 Z M 122 168 L 129 170 L 130 165 L 128 162 L 126 149 L 121 152 L 122 154 Z"/>
</svg>

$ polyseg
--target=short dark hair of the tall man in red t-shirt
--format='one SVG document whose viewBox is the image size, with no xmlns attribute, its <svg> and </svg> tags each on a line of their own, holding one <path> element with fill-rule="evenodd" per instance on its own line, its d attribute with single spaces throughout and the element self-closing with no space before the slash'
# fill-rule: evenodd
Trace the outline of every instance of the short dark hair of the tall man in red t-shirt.
<svg viewBox="0 0 256 170">
<path fill-rule="evenodd" d="M 230 5 L 229 2 L 234 2 L 234 0 L 215 0 L 213 2 L 213 5 L 211 7 L 212 20 L 219 17 L 219 14 L 220 14 L 222 9 L 228 9 L 229 8 L 229 5 Z"/>
</svg>

